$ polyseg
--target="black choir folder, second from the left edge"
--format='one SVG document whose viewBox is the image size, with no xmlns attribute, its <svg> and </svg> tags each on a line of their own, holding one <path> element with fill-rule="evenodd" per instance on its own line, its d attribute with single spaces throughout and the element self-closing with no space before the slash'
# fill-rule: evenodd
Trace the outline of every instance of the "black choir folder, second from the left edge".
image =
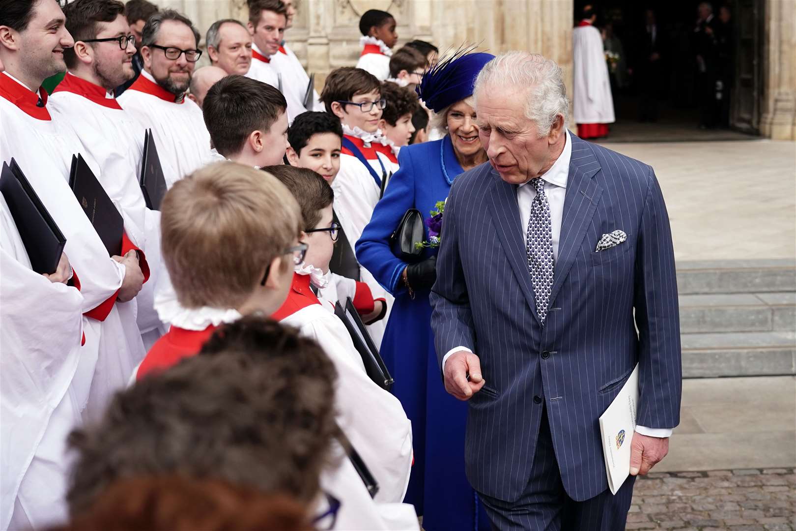
<svg viewBox="0 0 796 531">
<path fill-rule="evenodd" d="M 108 256 L 121 256 L 124 218 L 86 164 L 83 155 L 72 155 L 69 188 L 75 193 L 88 221 L 92 222 L 94 230 L 100 235 Z"/>
</svg>

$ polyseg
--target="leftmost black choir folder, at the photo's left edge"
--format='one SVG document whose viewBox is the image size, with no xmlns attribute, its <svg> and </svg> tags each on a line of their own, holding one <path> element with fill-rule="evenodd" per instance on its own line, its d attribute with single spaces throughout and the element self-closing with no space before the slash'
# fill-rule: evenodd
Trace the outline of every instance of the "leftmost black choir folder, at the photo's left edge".
<svg viewBox="0 0 796 531">
<path fill-rule="evenodd" d="M 10 166 L 2 163 L 0 192 L 6 198 L 11 217 L 28 252 L 30 267 L 37 273 L 53 274 L 58 269 L 66 238 L 14 158 Z"/>
</svg>

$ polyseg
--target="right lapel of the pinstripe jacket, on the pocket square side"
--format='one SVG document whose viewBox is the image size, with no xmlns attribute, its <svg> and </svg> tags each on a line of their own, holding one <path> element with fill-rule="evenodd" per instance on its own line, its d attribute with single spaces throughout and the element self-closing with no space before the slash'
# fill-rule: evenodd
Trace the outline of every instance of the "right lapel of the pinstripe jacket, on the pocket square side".
<svg viewBox="0 0 796 531">
<path fill-rule="evenodd" d="M 594 216 L 600 194 L 603 193 L 594 180 L 601 166 L 588 143 L 575 135 L 572 138 L 572 158 L 569 162 L 567 194 L 564 197 L 564 215 L 561 218 L 561 235 L 558 244 L 558 260 L 553 271 L 550 303 L 567 278 L 572 263 L 586 235 L 591 217 Z"/>
</svg>

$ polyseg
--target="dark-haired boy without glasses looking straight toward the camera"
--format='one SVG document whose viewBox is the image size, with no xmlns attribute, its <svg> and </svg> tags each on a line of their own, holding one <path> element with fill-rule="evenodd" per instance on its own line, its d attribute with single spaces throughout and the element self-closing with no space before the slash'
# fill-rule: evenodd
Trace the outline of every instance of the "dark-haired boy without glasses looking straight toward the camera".
<svg viewBox="0 0 796 531">
<path fill-rule="evenodd" d="M 328 112 L 304 112 L 296 117 L 287 132 L 290 147 L 287 161 L 291 166 L 307 168 L 321 175 L 330 185 L 340 170 L 340 153 L 343 130 L 340 120 Z M 340 220 L 332 211 L 332 221 L 338 226 Z M 365 323 L 376 322 L 387 314 L 387 302 L 373 299 L 368 284 L 359 282 L 360 272 L 353 244 L 342 229 L 334 244 L 327 275 L 329 284 L 322 289 L 323 298 L 332 303 L 350 297 Z"/>
</svg>

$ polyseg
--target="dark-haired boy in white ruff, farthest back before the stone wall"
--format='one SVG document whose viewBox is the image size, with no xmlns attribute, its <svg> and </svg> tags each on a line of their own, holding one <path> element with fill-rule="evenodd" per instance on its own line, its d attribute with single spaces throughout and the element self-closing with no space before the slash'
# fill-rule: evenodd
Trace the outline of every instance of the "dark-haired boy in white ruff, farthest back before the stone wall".
<svg viewBox="0 0 796 531">
<path fill-rule="evenodd" d="M 384 81 L 390 76 L 392 47 L 398 41 L 396 19 L 387 11 L 367 10 L 359 19 L 362 54 L 357 68 L 362 68 Z"/>
</svg>

